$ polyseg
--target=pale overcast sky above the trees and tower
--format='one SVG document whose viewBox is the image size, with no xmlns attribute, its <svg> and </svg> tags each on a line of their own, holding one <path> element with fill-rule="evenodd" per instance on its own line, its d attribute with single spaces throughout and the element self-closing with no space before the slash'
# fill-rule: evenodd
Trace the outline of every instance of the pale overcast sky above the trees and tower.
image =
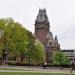
<svg viewBox="0 0 75 75">
<path fill-rule="evenodd" d="M 75 49 L 75 0 L 0 0 L 0 18 L 12 17 L 34 33 L 40 8 L 46 9 L 61 49 Z"/>
</svg>

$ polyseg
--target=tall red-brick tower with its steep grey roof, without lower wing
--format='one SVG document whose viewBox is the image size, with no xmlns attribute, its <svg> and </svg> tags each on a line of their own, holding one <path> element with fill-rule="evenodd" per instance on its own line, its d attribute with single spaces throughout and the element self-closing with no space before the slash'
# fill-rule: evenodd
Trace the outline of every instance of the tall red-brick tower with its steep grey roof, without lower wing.
<svg viewBox="0 0 75 75">
<path fill-rule="evenodd" d="M 39 9 L 39 13 L 35 21 L 35 36 L 44 45 L 47 43 L 46 35 L 49 32 L 49 28 L 50 25 L 46 14 L 46 9 Z"/>
</svg>

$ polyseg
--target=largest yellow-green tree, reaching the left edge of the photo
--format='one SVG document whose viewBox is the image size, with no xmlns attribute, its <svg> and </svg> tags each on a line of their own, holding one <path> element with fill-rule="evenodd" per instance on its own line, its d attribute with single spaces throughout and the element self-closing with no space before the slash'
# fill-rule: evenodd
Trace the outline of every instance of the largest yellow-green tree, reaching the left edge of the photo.
<svg viewBox="0 0 75 75">
<path fill-rule="evenodd" d="M 4 58 L 6 51 L 8 55 L 21 56 L 23 61 L 27 44 L 27 30 L 12 18 L 1 19 L 0 29 L 4 32 L 0 39 L 0 55 Z"/>
</svg>

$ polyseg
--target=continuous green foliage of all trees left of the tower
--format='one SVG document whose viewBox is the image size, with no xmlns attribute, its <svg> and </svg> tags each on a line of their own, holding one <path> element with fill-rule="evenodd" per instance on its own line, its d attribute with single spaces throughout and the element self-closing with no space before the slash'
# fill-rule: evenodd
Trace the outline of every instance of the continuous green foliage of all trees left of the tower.
<svg viewBox="0 0 75 75">
<path fill-rule="evenodd" d="M 12 18 L 0 19 L 0 29 L 3 35 L 0 39 L 0 56 L 3 57 L 3 50 L 8 56 L 20 56 L 32 59 L 37 62 L 45 60 L 44 47 L 39 41 L 35 41 L 33 34 L 26 30 L 21 24 Z"/>
</svg>

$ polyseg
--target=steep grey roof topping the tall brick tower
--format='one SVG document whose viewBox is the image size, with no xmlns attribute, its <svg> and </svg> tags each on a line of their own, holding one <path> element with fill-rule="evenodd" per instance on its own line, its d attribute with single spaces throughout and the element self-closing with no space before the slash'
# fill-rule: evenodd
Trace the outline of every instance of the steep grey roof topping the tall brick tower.
<svg viewBox="0 0 75 75">
<path fill-rule="evenodd" d="M 37 23 L 41 23 L 41 22 L 49 23 L 48 17 L 46 14 L 46 9 L 39 9 L 39 13 L 38 13 L 36 22 Z"/>
</svg>

